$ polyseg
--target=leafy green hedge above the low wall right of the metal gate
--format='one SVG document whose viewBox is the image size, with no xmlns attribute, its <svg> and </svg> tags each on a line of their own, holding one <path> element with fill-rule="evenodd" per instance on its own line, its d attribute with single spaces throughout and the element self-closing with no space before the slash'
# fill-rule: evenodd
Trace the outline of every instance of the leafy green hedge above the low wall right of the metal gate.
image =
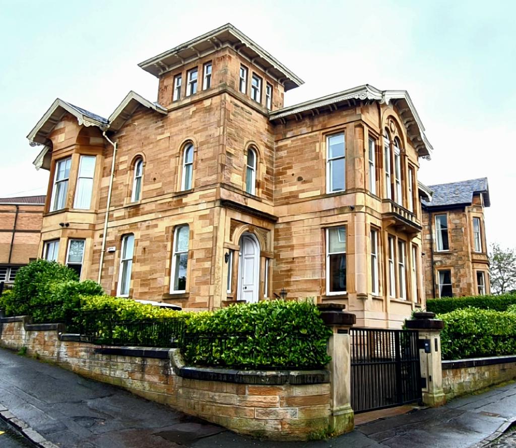
<svg viewBox="0 0 516 448">
<path fill-rule="evenodd" d="M 516 313 L 467 308 L 438 314 L 443 359 L 516 354 Z"/>
</svg>

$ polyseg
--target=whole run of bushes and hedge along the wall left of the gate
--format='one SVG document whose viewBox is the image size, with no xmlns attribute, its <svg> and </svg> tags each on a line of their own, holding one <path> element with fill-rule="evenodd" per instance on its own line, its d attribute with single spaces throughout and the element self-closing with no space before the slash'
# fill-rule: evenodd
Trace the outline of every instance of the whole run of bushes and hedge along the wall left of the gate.
<svg viewBox="0 0 516 448">
<path fill-rule="evenodd" d="M 158 333 L 170 327 L 169 319 L 182 319 L 180 346 L 187 362 L 195 365 L 315 369 L 330 360 L 326 345 L 331 331 L 313 303 L 272 300 L 215 312 L 173 311 L 104 295 L 98 283 L 79 282 L 73 270 L 44 260 L 20 268 L 13 290 L 0 297 L 0 308 L 10 316 L 32 315 L 35 322 L 67 322 L 75 331 L 94 328 L 101 338 L 109 333 L 131 345 L 140 345 L 143 332 L 147 341 L 149 336 L 162 341 Z M 154 324 L 142 331 L 117 321 Z"/>
</svg>

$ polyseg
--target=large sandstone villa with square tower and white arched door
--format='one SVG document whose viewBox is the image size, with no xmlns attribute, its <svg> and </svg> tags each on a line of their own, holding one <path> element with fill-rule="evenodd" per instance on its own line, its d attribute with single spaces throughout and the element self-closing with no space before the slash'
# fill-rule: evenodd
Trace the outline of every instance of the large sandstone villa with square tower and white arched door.
<svg viewBox="0 0 516 448">
<path fill-rule="evenodd" d="M 303 82 L 230 24 L 139 66 L 157 102 L 130 92 L 105 119 L 57 99 L 28 135 L 50 170 L 40 256 L 185 309 L 283 290 L 398 327 L 424 306 L 432 148 L 406 91 L 283 107 Z"/>
</svg>

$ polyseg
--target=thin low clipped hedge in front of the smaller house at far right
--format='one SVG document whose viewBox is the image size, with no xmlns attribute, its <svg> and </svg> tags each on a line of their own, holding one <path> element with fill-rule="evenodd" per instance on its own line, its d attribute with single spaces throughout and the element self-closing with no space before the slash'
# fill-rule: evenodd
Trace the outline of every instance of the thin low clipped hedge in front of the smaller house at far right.
<svg viewBox="0 0 516 448">
<path fill-rule="evenodd" d="M 510 305 L 516 305 L 516 294 L 428 299 L 426 301 L 426 310 L 436 314 L 449 313 L 450 311 L 469 307 L 482 310 L 506 311 Z"/>
</svg>

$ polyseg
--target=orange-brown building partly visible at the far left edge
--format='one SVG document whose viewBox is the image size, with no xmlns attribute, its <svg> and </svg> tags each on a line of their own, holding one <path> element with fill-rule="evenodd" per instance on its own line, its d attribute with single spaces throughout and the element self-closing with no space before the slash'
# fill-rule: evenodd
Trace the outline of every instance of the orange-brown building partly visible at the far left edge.
<svg viewBox="0 0 516 448">
<path fill-rule="evenodd" d="M 38 258 L 44 196 L 0 198 L 0 282 L 12 283 L 18 269 Z"/>
</svg>

